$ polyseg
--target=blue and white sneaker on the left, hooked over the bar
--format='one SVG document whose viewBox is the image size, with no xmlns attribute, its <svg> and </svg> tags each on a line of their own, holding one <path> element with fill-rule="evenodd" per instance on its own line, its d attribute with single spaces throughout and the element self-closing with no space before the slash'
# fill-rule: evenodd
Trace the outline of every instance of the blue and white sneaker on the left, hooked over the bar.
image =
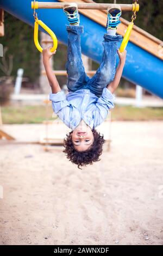
<svg viewBox="0 0 163 256">
<path fill-rule="evenodd" d="M 76 3 L 65 4 L 63 10 L 70 25 L 79 25 L 80 17 L 78 13 L 78 5 Z"/>
</svg>

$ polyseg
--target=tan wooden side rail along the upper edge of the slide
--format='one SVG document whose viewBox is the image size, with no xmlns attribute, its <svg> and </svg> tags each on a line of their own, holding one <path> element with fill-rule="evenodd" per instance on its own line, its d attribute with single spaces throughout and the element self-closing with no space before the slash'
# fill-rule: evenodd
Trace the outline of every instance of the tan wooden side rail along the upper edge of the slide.
<svg viewBox="0 0 163 256">
<path fill-rule="evenodd" d="M 59 0 L 60 2 L 64 2 L 64 0 Z M 66 0 L 66 2 L 72 2 L 72 0 Z M 90 0 L 76 0 L 78 3 L 93 1 Z M 93 2 L 94 3 L 94 2 Z M 79 13 L 82 13 L 89 19 L 99 23 L 103 27 L 106 26 L 106 11 L 105 10 L 79 10 Z M 139 19 L 139 17 L 137 17 Z M 117 33 L 124 36 L 126 33 L 126 29 L 128 27 L 129 22 L 121 18 L 122 23 L 117 28 Z M 133 44 L 143 48 L 143 50 L 153 54 L 154 56 L 163 60 L 162 54 L 160 54 L 160 47 L 163 44 L 163 41 L 155 38 L 155 36 L 143 31 L 143 29 L 136 27 L 134 25 L 133 31 L 130 35 L 130 42 Z"/>
</svg>

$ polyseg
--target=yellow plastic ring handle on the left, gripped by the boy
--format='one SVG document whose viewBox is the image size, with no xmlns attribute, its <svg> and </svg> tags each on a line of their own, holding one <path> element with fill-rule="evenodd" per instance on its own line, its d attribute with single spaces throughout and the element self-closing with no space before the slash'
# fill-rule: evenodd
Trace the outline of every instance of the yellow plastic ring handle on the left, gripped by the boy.
<svg viewBox="0 0 163 256">
<path fill-rule="evenodd" d="M 36 19 L 35 20 L 35 25 L 34 25 L 34 43 L 35 43 L 35 46 L 36 48 L 42 52 L 42 47 L 41 45 L 39 44 L 39 40 L 38 40 L 38 34 L 39 34 L 39 25 L 45 29 L 45 31 L 51 35 L 52 39 L 53 39 L 53 47 L 51 48 L 51 52 L 54 52 L 56 49 L 57 49 L 57 46 L 58 46 L 58 41 L 57 41 L 57 37 L 55 36 L 54 32 L 48 28 L 45 23 L 43 23 L 41 20 L 38 20 Z"/>
</svg>

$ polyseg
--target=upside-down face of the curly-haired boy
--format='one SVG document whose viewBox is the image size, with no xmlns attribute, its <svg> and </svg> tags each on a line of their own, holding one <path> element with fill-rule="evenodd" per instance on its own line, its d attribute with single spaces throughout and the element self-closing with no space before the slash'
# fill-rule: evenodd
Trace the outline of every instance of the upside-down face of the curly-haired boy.
<svg viewBox="0 0 163 256">
<path fill-rule="evenodd" d="M 93 141 L 93 132 L 89 126 L 78 126 L 72 132 L 72 142 L 74 149 L 77 151 L 87 150 L 89 147 L 91 147 Z"/>
</svg>

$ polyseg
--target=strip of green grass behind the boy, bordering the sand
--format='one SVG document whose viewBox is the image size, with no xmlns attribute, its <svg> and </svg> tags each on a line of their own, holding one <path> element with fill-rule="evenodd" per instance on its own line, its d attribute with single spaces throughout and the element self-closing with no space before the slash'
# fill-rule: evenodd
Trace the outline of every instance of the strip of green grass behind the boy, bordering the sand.
<svg viewBox="0 0 163 256">
<path fill-rule="evenodd" d="M 52 106 L 48 106 L 47 119 L 52 118 Z M 39 124 L 45 120 L 45 106 L 12 106 L 2 107 L 2 118 L 4 124 Z M 57 118 L 57 115 L 56 115 Z M 136 108 L 132 106 L 115 106 L 111 111 L 111 119 L 116 121 L 148 121 L 163 120 L 163 108 Z"/>
</svg>

